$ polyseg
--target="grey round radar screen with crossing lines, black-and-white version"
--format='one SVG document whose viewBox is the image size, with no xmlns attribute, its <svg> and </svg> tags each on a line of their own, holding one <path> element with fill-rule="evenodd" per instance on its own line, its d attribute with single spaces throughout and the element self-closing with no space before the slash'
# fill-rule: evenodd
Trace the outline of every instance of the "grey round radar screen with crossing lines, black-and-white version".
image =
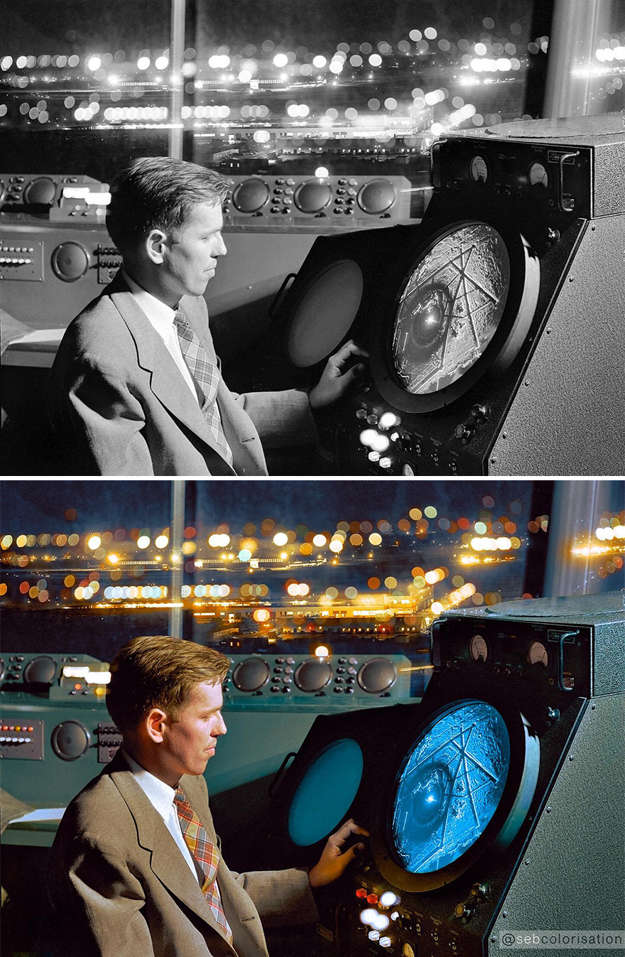
<svg viewBox="0 0 625 957">
<path fill-rule="evenodd" d="M 392 328 L 392 361 L 413 395 L 445 389 L 483 355 L 502 319 L 510 259 L 486 223 L 443 234 L 406 282 Z"/>
</svg>

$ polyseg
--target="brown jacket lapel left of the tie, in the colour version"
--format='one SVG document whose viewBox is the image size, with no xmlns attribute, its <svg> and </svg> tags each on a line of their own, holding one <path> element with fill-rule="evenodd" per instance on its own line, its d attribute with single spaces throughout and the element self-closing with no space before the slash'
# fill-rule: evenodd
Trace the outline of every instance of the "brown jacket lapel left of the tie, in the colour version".
<svg viewBox="0 0 625 957">
<path fill-rule="evenodd" d="M 128 811 L 137 828 L 137 838 L 141 847 L 150 852 L 150 867 L 153 874 L 167 887 L 167 890 L 179 901 L 189 907 L 202 921 L 209 924 L 223 944 L 222 952 L 232 954 L 234 950 L 224 940 L 208 901 L 204 897 L 197 880 L 193 879 L 189 865 L 180 853 L 173 837 L 161 815 L 155 810 L 126 768 L 121 754 L 116 755 L 109 768 L 103 773 L 110 774 L 111 780 L 119 790 Z"/>
</svg>

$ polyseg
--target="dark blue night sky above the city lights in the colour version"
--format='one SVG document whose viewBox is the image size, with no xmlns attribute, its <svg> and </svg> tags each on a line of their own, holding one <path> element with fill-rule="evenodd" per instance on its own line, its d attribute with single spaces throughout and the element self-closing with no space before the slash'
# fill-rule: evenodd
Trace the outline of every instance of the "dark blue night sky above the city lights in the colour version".
<svg viewBox="0 0 625 957">
<path fill-rule="evenodd" d="M 523 479 L 387 480 L 211 480 L 188 482 L 188 521 L 233 530 L 265 518 L 294 526 L 336 527 L 341 521 L 386 519 L 394 524 L 411 508 L 434 505 L 438 515 L 476 520 L 484 496 L 492 496 L 493 514 L 505 514 L 511 501 L 527 508 L 535 486 Z M 103 527 L 164 527 L 170 517 L 167 480 L 6 481 L 2 490 L 2 532 L 87 531 Z M 196 507 L 195 507 L 196 506 Z M 78 517 L 69 522 L 68 508 Z M 525 510 L 524 508 L 524 510 Z"/>
</svg>

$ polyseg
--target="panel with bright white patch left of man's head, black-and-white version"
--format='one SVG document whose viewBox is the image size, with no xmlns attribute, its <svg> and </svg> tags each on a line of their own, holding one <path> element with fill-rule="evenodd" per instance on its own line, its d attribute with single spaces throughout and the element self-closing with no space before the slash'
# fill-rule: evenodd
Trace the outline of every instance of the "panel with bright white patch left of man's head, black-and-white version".
<svg viewBox="0 0 625 957">
<path fill-rule="evenodd" d="M 107 183 L 91 176 L 0 173 L 0 211 L 48 212 L 51 222 L 101 223 L 110 203 Z"/>
</svg>

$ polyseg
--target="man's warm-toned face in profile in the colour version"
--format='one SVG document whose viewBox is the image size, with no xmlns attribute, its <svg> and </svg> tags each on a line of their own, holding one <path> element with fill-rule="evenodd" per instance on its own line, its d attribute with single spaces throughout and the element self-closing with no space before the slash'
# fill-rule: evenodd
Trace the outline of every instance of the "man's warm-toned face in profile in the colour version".
<svg viewBox="0 0 625 957">
<path fill-rule="evenodd" d="M 222 706 L 221 685 L 202 682 L 193 689 L 178 721 L 167 717 L 161 757 L 172 778 L 204 773 L 217 738 L 226 733 Z"/>
</svg>

